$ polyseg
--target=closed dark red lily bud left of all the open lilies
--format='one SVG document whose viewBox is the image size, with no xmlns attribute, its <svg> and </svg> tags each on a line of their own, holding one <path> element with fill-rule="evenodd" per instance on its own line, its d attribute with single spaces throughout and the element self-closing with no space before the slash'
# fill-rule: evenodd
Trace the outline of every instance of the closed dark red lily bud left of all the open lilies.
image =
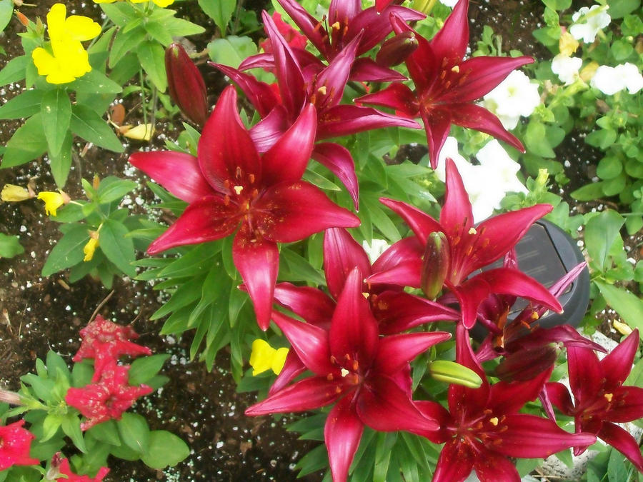
<svg viewBox="0 0 643 482">
<path fill-rule="evenodd" d="M 181 112 L 194 124 L 203 126 L 208 116 L 205 81 L 185 49 L 170 44 L 165 51 L 165 70 L 169 94 Z"/>
</svg>

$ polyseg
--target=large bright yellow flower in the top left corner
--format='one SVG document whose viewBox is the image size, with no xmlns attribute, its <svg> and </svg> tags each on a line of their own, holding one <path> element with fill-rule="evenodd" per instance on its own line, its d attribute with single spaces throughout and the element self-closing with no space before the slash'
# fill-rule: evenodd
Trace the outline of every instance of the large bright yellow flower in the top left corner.
<svg viewBox="0 0 643 482">
<path fill-rule="evenodd" d="M 46 76 L 49 84 L 66 84 L 91 71 L 89 56 L 81 41 L 94 39 L 101 26 L 89 17 L 71 15 L 67 18 L 64 4 L 54 4 L 47 14 L 50 43 L 37 47 L 31 58 L 38 74 Z"/>
</svg>

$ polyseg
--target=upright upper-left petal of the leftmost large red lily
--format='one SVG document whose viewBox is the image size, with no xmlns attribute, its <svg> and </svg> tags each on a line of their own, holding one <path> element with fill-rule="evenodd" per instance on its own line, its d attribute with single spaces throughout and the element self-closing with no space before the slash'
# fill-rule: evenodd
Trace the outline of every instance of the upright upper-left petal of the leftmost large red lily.
<svg viewBox="0 0 643 482">
<path fill-rule="evenodd" d="M 259 154 L 236 111 L 234 86 L 226 87 L 219 97 L 197 151 L 201 172 L 216 191 L 227 194 L 224 181 L 243 185 L 250 175 L 259 182 Z"/>
</svg>

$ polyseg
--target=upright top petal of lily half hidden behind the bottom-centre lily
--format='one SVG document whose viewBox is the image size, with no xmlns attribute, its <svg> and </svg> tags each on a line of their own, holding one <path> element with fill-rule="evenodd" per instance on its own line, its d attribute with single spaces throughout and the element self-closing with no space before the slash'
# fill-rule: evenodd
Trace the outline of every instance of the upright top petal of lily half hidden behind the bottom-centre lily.
<svg viewBox="0 0 643 482">
<path fill-rule="evenodd" d="M 339 298 L 344 281 L 356 266 L 364 276 L 371 273 L 371 262 L 364 248 L 345 229 L 327 229 L 324 232 L 324 273 L 333 298 Z"/>
</svg>

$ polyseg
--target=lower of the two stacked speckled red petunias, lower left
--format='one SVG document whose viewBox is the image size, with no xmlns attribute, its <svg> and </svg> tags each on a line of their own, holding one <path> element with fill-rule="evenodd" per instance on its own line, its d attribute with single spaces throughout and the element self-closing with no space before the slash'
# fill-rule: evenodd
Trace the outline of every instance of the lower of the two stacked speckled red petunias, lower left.
<svg viewBox="0 0 643 482">
<path fill-rule="evenodd" d="M 120 420 L 123 412 L 134 404 L 136 398 L 152 392 L 152 388 L 147 385 L 129 385 L 129 368 L 112 364 L 104 369 L 99 383 L 69 388 L 65 396 L 66 403 L 77 408 L 88 419 L 81 423 L 82 430 L 112 418 Z"/>
</svg>

